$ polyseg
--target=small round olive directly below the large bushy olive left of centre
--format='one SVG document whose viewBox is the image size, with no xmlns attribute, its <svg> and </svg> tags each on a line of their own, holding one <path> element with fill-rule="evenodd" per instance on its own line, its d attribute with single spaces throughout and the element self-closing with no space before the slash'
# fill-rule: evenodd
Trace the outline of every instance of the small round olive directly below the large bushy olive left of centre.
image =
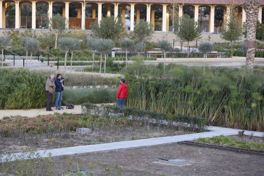
<svg viewBox="0 0 264 176">
<path fill-rule="evenodd" d="M 98 42 L 98 50 L 101 53 L 101 61 L 100 61 L 100 75 L 101 75 L 101 65 L 102 65 L 102 55 L 104 54 L 104 76 L 106 70 L 106 55 L 111 53 L 112 48 L 114 48 L 115 43 L 111 39 L 101 39 Z"/>
</svg>

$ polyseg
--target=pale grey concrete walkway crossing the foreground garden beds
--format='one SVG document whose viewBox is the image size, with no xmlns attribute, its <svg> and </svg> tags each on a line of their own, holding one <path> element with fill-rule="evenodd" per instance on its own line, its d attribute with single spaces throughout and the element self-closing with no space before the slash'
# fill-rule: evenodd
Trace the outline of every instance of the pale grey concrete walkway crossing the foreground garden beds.
<svg viewBox="0 0 264 176">
<path fill-rule="evenodd" d="M 111 151 L 111 150 L 139 148 L 139 147 L 146 147 L 146 146 L 152 146 L 152 145 L 171 144 L 171 143 L 177 143 L 180 141 L 194 140 L 200 137 L 213 137 L 213 136 L 219 136 L 219 135 L 224 135 L 224 136 L 237 135 L 238 131 L 240 131 L 238 129 L 222 128 L 222 127 L 215 127 L 215 126 L 210 126 L 209 130 L 210 130 L 209 132 L 185 134 L 185 135 L 178 135 L 178 136 L 167 136 L 167 137 L 140 139 L 140 140 L 133 140 L 133 141 L 122 141 L 122 142 L 114 142 L 114 143 L 104 143 L 104 144 L 83 145 L 83 146 L 56 148 L 56 149 L 48 149 L 48 150 L 38 150 L 36 151 L 36 153 L 39 153 L 40 156 L 42 157 L 48 157 L 49 153 L 51 153 L 52 157 L 61 156 L 61 155 L 78 155 L 78 154 L 85 154 L 85 153 L 105 152 L 105 151 Z M 245 131 L 244 134 L 252 135 L 256 137 L 262 137 L 264 135 L 263 132 L 256 132 L 256 131 Z M 15 157 L 12 157 L 12 156 L 15 155 L 18 157 L 18 156 L 21 156 L 21 154 L 22 153 L 20 152 L 20 153 L 13 153 L 11 155 L 3 155 L 0 162 L 5 162 L 6 158 L 9 158 L 9 161 L 13 161 L 15 160 Z"/>
</svg>

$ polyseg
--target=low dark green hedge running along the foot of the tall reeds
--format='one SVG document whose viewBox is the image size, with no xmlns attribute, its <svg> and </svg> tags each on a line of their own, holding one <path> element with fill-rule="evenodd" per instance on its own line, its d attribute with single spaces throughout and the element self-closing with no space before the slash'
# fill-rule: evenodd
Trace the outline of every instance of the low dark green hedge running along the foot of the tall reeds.
<svg viewBox="0 0 264 176">
<path fill-rule="evenodd" d="M 131 107 L 123 107 L 120 109 L 118 106 L 104 105 L 98 107 L 97 105 L 91 103 L 84 103 L 82 104 L 82 112 L 84 114 L 101 113 L 108 117 L 116 116 L 117 114 L 121 113 L 121 116 L 123 117 L 132 116 L 133 120 L 138 119 L 138 121 L 144 123 L 156 122 L 158 126 L 162 125 L 162 123 L 165 121 L 167 121 L 167 124 L 170 126 L 174 126 L 175 122 L 180 122 L 181 124 L 188 123 L 189 128 L 196 128 L 199 131 L 205 131 L 207 126 L 209 126 L 209 120 L 203 117 L 194 117 L 181 114 L 165 114 Z M 155 121 L 153 121 L 153 119 Z M 186 125 L 182 125 L 186 127 Z"/>
</svg>

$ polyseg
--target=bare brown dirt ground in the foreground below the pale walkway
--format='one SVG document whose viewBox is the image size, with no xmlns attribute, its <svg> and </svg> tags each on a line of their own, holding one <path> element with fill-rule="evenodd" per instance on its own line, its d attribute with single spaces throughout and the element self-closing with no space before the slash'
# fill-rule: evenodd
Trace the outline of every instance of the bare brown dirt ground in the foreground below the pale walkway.
<svg viewBox="0 0 264 176">
<path fill-rule="evenodd" d="M 188 165 L 180 167 L 153 163 L 157 162 L 158 158 L 161 157 L 187 160 Z M 69 163 L 71 167 L 69 167 Z M 62 175 L 68 169 L 94 170 L 94 165 L 102 165 L 103 167 L 98 167 L 99 169 L 96 170 L 96 175 L 102 175 L 101 173 L 106 168 L 109 170 L 114 168 L 119 170 L 120 175 L 262 176 L 264 174 L 263 163 L 263 156 L 171 144 L 106 153 L 57 157 L 53 159 L 53 169 L 60 168 L 60 170 L 56 170 L 57 175 Z M 116 170 L 111 175 L 118 175 Z"/>
</svg>

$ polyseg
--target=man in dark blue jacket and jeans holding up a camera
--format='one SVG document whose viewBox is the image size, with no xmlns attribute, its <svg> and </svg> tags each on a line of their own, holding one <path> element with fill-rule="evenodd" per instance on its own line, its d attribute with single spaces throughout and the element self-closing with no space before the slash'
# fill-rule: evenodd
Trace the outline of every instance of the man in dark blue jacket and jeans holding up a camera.
<svg viewBox="0 0 264 176">
<path fill-rule="evenodd" d="M 56 92 L 56 110 L 63 109 L 61 107 L 61 101 L 62 101 L 62 91 L 63 91 L 63 83 L 64 83 L 64 77 L 61 76 L 61 74 L 57 74 L 57 77 L 55 79 L 55 92 Z"/>
</svg>

